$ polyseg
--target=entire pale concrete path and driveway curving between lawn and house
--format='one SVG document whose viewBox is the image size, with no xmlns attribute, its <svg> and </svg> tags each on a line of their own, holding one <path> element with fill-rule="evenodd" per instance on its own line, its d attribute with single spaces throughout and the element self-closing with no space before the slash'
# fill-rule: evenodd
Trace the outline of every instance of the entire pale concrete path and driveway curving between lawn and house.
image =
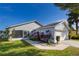
<svg viewBox="0 0 79 59">
<path fill-rule="evenodd" d="M 50 46 L 45 43 L 39 42 L 39 41 L 32 41 L 29 39 L 25 41 L 39 49 L 46 49 L 46 50 L 64 50 L 69 46 L 79 48 L 79 41 L 75 41 L 75 40 L 65 40 L 57 45 L 50 45 Z"/>
</svg>

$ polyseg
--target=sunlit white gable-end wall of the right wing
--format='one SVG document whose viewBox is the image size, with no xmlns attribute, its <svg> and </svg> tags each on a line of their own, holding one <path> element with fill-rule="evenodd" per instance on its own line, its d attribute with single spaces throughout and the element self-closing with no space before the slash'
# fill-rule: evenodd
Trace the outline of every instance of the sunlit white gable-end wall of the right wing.
<svg viewBox="0 0 79 59">
<path fill-rule="evenodd" d="M 56 27 L 55 30 L 62 30 L 60 31 L 54 31 L 54 42 L 56 41 L 56 36 L 60 36 L 60 42 L 63 40 L 68 39 L 68 29 L 65 27 L 63 23 L 59 23 Z"/>
</svg>

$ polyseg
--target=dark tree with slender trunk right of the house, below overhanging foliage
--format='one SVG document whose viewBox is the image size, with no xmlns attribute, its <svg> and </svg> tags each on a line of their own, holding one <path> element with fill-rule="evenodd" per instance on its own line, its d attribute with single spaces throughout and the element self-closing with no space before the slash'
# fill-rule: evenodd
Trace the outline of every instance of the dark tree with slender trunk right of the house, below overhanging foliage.
<svg viewBox="0 0 79 59">
<path fill-rule="evenodd" d="M 79 22 L 79 14 L 77 13 L 73 13 L 73 12 L 70 12 L 68 14 L 69 18 L 68 18 L 68 23 L 69 23 L 69 27 L 72 28 L 72 24 L 76 24 L 76 35 L 78 34 L 78 22 Z"/>
</svg>

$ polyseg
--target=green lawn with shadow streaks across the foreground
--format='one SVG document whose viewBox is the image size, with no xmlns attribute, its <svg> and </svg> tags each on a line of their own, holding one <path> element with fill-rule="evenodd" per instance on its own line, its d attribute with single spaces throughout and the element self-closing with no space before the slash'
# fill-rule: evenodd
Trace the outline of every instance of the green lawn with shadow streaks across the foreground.
<svg viewBox="0 0 79 59">
<path fill-rule="evenodd" d="M 79 48 L 68 47 L 65 50 L 40 50 L 24 41 L 0 42 L 0 56 L 75 56 Z"/>
</svg>

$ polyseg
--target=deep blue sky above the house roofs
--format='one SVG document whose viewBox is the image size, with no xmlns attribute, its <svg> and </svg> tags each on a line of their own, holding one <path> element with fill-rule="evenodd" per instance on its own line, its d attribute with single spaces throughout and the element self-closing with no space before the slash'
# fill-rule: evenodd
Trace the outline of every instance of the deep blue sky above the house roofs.
<svg viewBox="0 0 79 59">
<path fill-rule="evenodd" d="M 49 24 L 59 20 L 66 20 L 66 11 L 60 10 L 54 4 L 13 3 L 0 4 L 0 30 L 8 26 L 39 21 L 41 24 Z"/>
</svg>

